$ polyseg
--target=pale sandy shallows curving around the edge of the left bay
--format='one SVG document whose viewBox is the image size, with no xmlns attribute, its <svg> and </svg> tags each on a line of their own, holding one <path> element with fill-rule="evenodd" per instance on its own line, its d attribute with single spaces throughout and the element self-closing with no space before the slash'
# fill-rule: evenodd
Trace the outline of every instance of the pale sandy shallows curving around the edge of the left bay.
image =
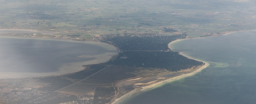
<svg viewBox="0 0 256 104">
<path fill-rule="evenodd" d="M 93 44 L 99 47 L 103 47 L 106 50 L 117 50 L 113 45 L 97 42 L 97 41 L 75 41 L 75 40 L 67 40 L 67 39 L 49 39 L 42 37 L 19 37 L 19 36 L 0 36 L 0 38 L 14 38 L 14 39 L 37 39 L 37 40 L 54 40 L 54 41 L 67 41 L 67 42 L 75 42 L 75 43 L 84 43 L 84 44 Z M 82 55 L 78 57 L 89 57 L 94 58 L 89 61 L 82 62 L 74 62 L 74 63 L 62 63 L 58 67 L 58 71 L 55 72 L 46 72 L 46 73 L 32 73 L 32 72 L 2 72 L 0 75 L 0 79 L 11 79 L 11 78 L 27 78 L 27 77 L 42 77 L 42 76 L 56 76 L 56 75 L 64 75 L 68 73 L 78 72 L 84 69 L 83 65 L 89 64 L 99 64 L 105 63 L 112 58 L 112 56 L 117 55 L 117 53 L 103 53 L 102 55 Z"/>
</svg>

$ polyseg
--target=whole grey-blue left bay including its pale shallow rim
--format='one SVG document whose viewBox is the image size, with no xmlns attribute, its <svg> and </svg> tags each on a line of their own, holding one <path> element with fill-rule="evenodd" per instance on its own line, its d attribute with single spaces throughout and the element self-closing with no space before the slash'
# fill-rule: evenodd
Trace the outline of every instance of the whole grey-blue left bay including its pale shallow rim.
<svg viewBox="0 0 256 104">
<path fill-rule="evenodd" d="M 117 53 L 112 45 L 95 41 L 0 37 L 0 79 L 63 75 L 78 72 L 82 65 L 108 61 Z"/>
</svg>

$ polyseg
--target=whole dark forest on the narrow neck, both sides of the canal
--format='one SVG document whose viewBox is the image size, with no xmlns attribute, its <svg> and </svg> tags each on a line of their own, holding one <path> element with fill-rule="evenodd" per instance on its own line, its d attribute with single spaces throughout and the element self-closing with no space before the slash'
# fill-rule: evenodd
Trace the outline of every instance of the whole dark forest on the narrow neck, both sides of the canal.
<svg viewBox="0 0 256 104">
<path fill-rule="evenodd" d="M 203 62 L 188 59 L 178 52 L 160 51 L 169 49 L 167 45 L 171 41 L 184 39 L 186 36 L 186 34 L 180 34 L 174 36 L 106 37 L 106 42 L 122 50 L 119 56 L 113 61 L 108 61 L 108 64 L 160 68 L 168 69 L 169 71 L 179 71 L 202 65 Z"/>
</svg>

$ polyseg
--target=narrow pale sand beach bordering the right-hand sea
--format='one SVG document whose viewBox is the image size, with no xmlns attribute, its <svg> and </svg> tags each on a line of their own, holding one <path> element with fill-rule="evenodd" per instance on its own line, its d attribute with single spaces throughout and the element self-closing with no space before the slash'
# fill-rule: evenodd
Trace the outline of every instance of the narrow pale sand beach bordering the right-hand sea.
<svg viewBox="0 0 256 104">
<path fill-rule="evenodd" d="M 172 48 L 170 48 L 170 45 L 173 44 L 174 42 L 177 42 L 177 41 L 181 41 L 181 40 L 186 40 L 186 39 L 178 39 L 178 40 L 174 40 L 172 42 L 170 42 L 168 44 L 168 48 L 170 50 L 172 50 Z M 185 56 L 183 52 L 180 52 L 180 54 L 182 56 Z M 189 57 L 189 56 L 185 56 L 189 59 L 193 59 L 193 60 L 197 60 L 197 61 L 202 61 L 202 60 L 199 60 L 199 59 L 195 59 L 195 58 L 192 58 L 192 57 Z M 143 91 L 147 91 L 147 90 L 150 90 L 150 89 L 153 89 L 153 88 L 157 88 L 163 84 L 166 84 L 166 83 L 170 83 L 172 81 L 176 81 L 176 80 L 179 80 L 179 79 L 182 79 L 182 78 L 185 78 L 185 77 L 188 77 L 188 76 L 192 76 L 192 75 L 195 75 L 196 73 L 202 71 L 204 68 L 208 67 L 209 63 L 207 63 L 206 61 L 202 61 L 204 63 L 204 65 L 197 69 L 196 71 L 193 71 L 191 73 L 186 73 L 186 74 L 183 74 L 183 75 L 179 75 L 179 76 L 176 76 L 176 77 L 172 77 L 170 79 L 166 79 L 166 80 L 163 80 L 161 82 L 158 82 L 158 83 L 155 83 L 155 84 L 151 84 L 151 85 L 148 85 L 146 87 L 140 87 L 140 88 L 135 88 L 133 89 L 131 92 L 128 92 L 126 93 L 125 95 L 119 97 L 118 99 L 116 99 L 112 104 L 120 104 L 122 101 L 124 101 L 125 99 L 137 94 L 137 93 L 140 93 L 140 92 L 143 92 Z"/>
</svg>

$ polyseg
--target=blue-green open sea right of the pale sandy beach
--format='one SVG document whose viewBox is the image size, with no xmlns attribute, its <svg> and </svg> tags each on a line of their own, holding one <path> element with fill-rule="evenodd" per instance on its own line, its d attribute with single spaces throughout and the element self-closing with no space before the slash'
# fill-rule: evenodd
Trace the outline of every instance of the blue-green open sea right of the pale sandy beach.
<svg viewBox="0 0 256 104">
<path fill-rule="evenodd" d="M 178 41 L 173 49 L 210 65 L 194 76 L 138 93 L 121 104 L 255 104 L 256 31 Z"/>
</svg>

